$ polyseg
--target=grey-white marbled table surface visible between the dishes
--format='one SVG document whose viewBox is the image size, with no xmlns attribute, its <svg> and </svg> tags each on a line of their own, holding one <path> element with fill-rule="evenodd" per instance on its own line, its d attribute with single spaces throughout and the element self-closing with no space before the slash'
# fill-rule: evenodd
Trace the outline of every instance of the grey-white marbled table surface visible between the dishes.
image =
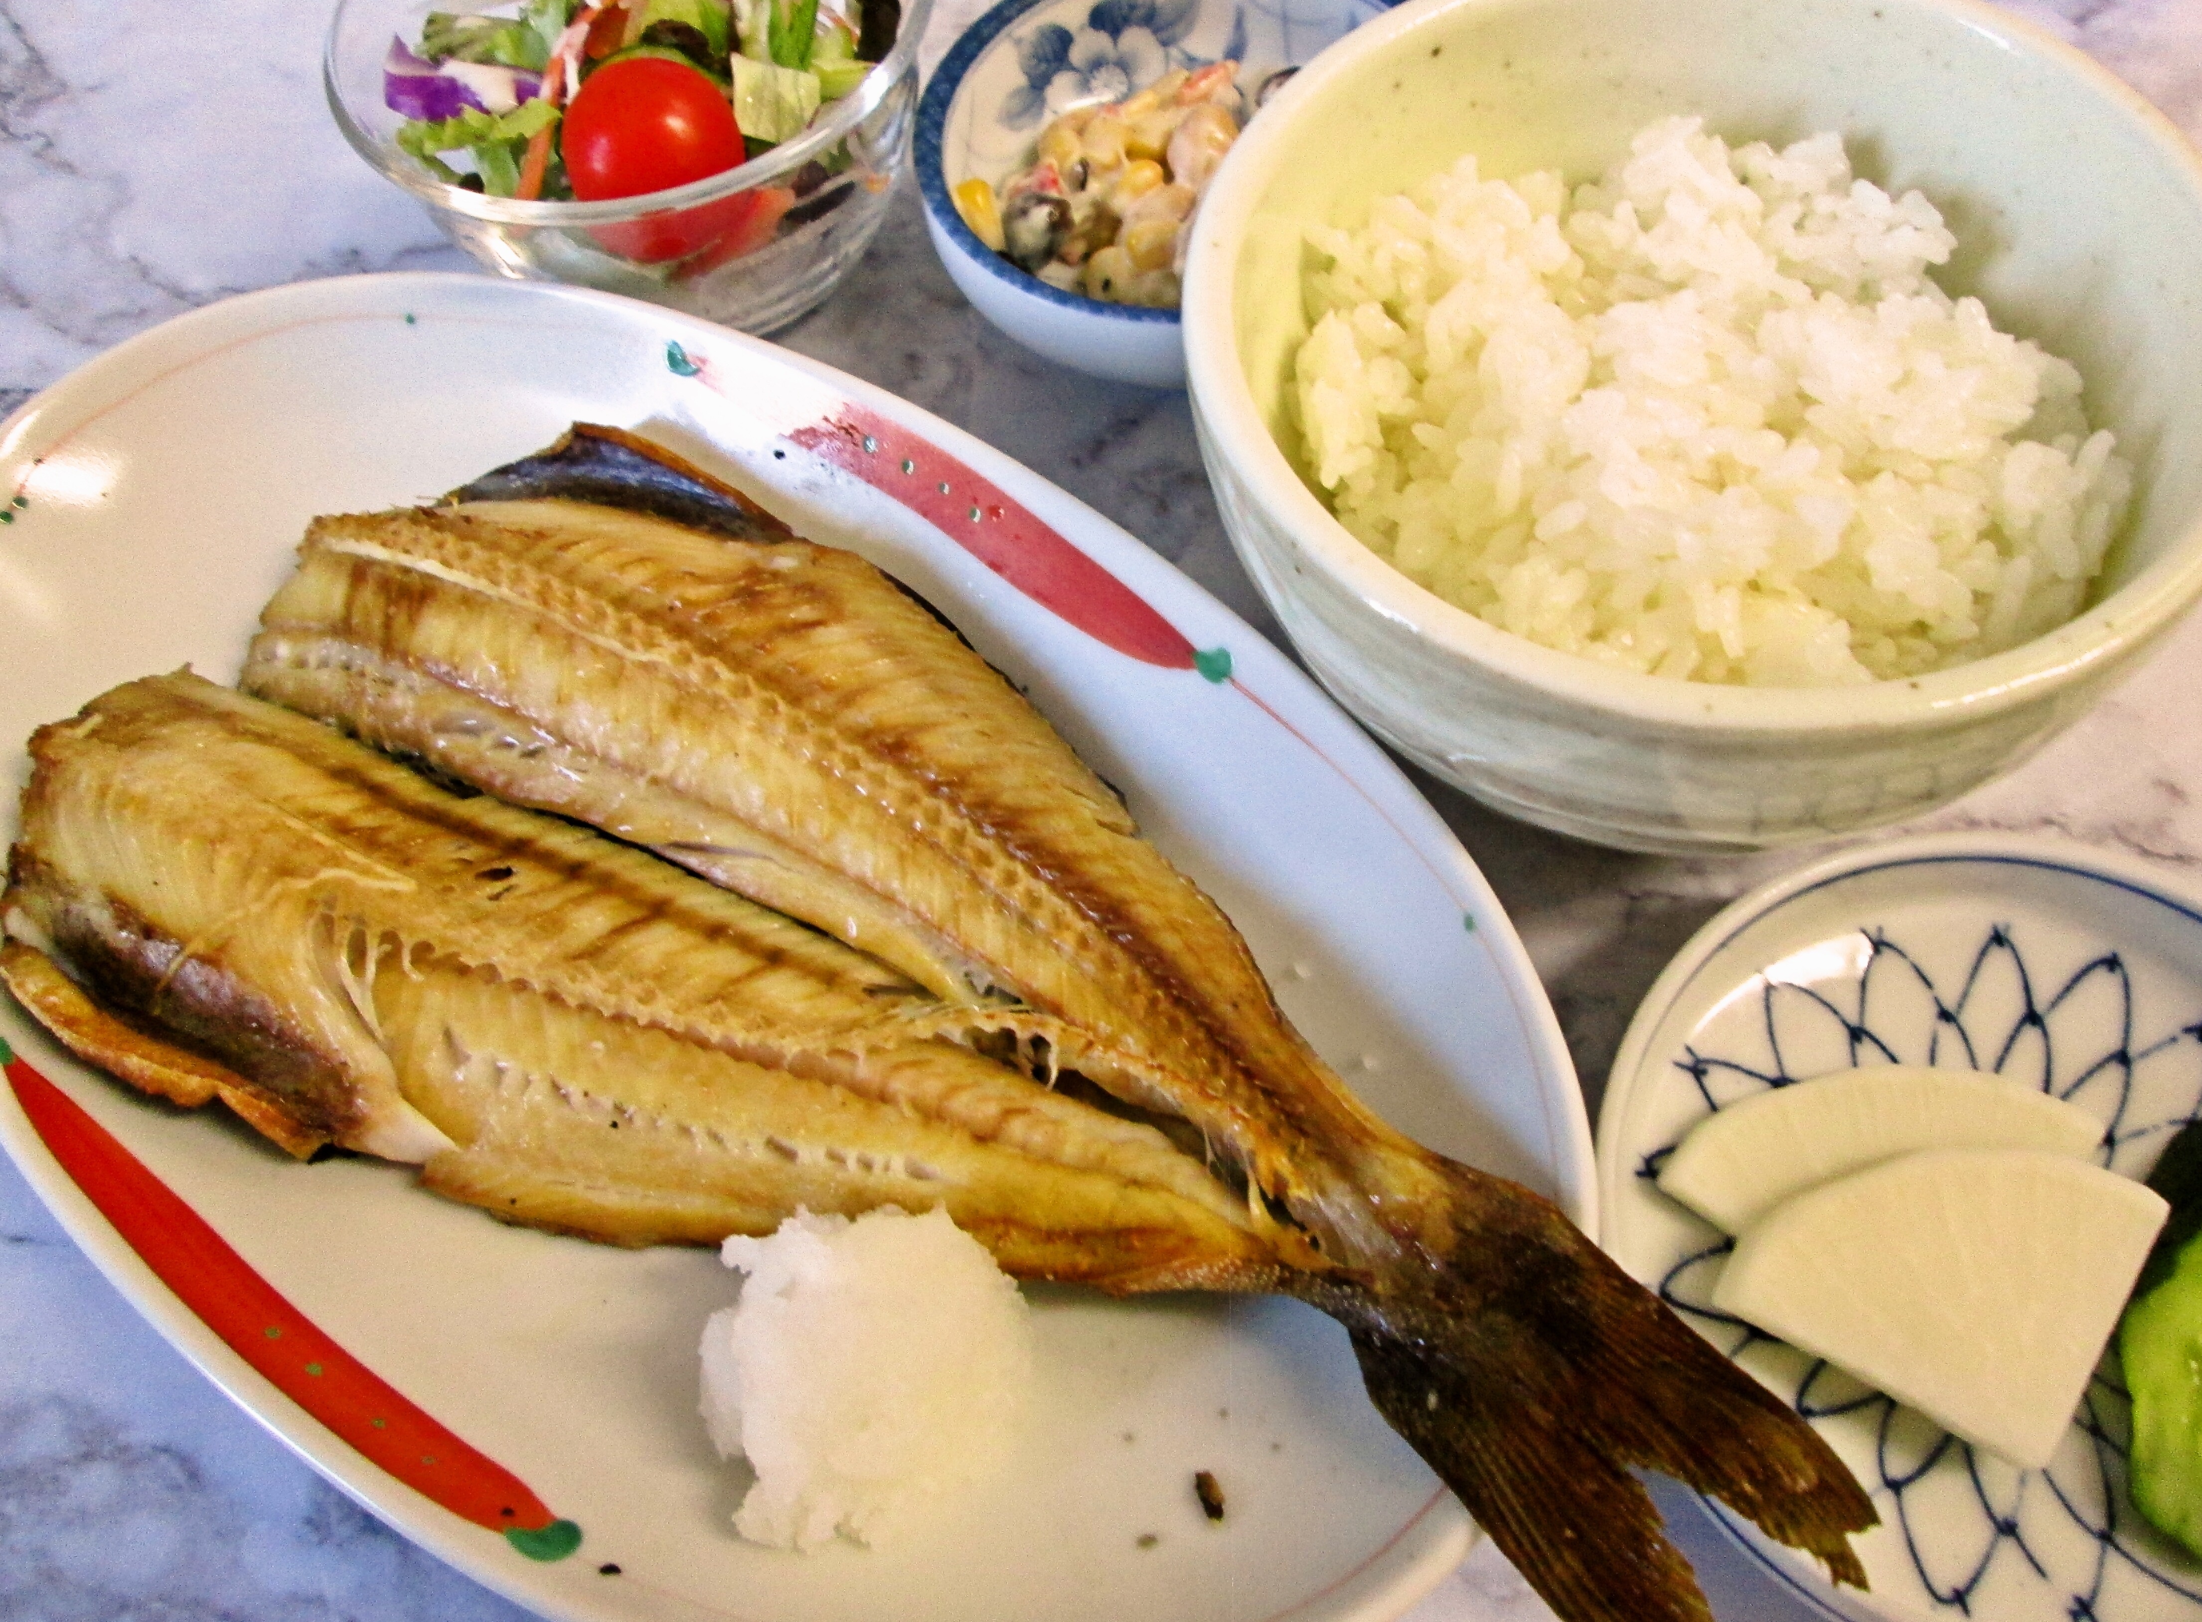
<svg viewBox="0 0 2202 1622">
<path fill-rule="evenodd" d="M 962 18 L 927 35 L 938 59 Z M 2202 141 L 2202 0 L 2030 0 Z M 170 315 L 277 282 L 471 268 L 330 128 L 324 9 L 0 0 L 0 416 Z M 2024 117 L 2024 110 L 2019 110 Z M 782 335 L 998 445 L 1273 638 L 1224 541 L 1180 394 L 1094 385 L 1000 337 L 934 262 L 916 198 Z M 13 649 L 26 656 L 26 649 Z M 2083 726 L 1918 828 L 2046 830 L 2202 887 L 2202 618 Z M 1508 823 L 1420 781 L 1513 913 L 1592 1114 L 1636 1001 L 1742 889 L 1808 852 L 1665 861 Z M 1803 1615 L 1669 1494 L 1724 1622 Z M 517 1622 L 321 1483 L 194 1373 L 0 1162 L 0 1622 Z M 1550 1615 L 1489 1547 L 1411 1622 Z"/>
</svg>

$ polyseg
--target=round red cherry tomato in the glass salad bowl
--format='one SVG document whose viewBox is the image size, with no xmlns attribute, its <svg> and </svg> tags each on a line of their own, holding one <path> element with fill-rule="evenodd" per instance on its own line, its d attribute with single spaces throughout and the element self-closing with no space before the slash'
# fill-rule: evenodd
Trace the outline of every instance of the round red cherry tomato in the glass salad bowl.
<svg viewBox="0 0 2202 1622">
<path fill-rule="evenodd" d="M 746 156 L 727 92 L 698 68 L 665 57 L 628 57 L 590 73 L 566 108 L 559 150 L 584 202 L 687 185 Z M 718 207 L 597 227 L 595 235 L 630 260 L 678 260 L 720 235 Z"/>
</svg>

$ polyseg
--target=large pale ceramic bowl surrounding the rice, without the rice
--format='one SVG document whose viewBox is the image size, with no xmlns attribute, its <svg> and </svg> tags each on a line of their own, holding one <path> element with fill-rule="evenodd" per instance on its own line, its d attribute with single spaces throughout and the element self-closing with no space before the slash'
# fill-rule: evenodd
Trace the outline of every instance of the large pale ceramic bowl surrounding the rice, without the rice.
<svg viewBox="0 0 2202 1622">
<path fill-rule="evenodd" d="M 1971 665 L 1843 689 L 1607 669 L 1511 636 L 1348 535 L 1288 460 L 1310 224 L 1475 152 L 1599 174 L 1665 114 L 1834 130 L 1958 233 L 1936 280 L 2079 365 L 2134 500 L 2090 607 Z M 1224 528 L 1301 658 L 1484 803 L 1605 845 L 1740 852 L 1931 810 L 2076 720 L 2202 594 L 2202 163 L 2079 53 L 1971 0 L 1411 0 L 1271 101 L 1202 205 L 1193 418 Z"/>
</svg>

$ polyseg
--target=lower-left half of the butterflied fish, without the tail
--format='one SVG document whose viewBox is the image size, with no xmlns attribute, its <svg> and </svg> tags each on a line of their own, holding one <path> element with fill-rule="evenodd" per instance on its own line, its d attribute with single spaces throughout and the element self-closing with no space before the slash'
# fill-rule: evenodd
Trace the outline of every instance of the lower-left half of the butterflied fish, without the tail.
<svg viewBox="0 0 2202 1622">
<path fill-rule="evenodd" d="M 909 1034 L 876 962 L 192 676 L 37 735 L 0 913 L 0 975 L 81 1056 L 509 1219 L 656 1243 L 945 1204 L 1026 1276 L 1277 1270 L 1198 1160 Z"/>
</svg>

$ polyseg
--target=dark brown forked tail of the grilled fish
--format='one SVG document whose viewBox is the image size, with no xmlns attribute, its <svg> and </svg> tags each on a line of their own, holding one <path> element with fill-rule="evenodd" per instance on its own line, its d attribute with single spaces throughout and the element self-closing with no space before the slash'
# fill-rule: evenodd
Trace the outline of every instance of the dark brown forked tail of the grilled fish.
<svg viewBox="0 0 2202 1622">
<path fill-rule="evenodd" d="M 1632 1470 L 1722 1499 L 1863 1589 L 1850 1534 L 1878 1516 L 1834 1450 L 1550 1202 L 1440 1164 L 1462 1206 L 1451 1254 L 1310 1301 L 1546 1604 L 1568 1622 L 1711 1622 Z"/>
</svg>

